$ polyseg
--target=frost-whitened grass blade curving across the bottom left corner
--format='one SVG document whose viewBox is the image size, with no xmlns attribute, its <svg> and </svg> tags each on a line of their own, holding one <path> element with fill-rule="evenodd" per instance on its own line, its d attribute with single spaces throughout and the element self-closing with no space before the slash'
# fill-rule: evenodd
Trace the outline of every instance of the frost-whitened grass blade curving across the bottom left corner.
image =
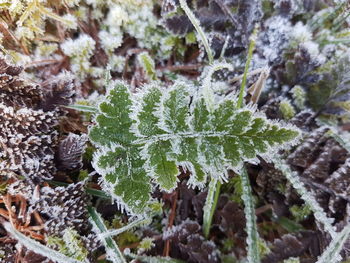
<svg viewBox="0 0 350 263">
<path fill-rule="evenodd" d="M 58 263 L 87 263 L 89 261 L 79 261 L 74 258 L 67 257 L 66 255 L 61 254 L 60 252 L 53 250 L 51 248 L 48 248 L 47 246 L 40 244 L 39 242 L 23 235 L 22 233 L 18 232 L 13 226 L 5 222 L 3 223 L 4 228 L 8 233 L 10 233 L 20 244 L 25 246 L 28 250 L 32 250 L 33 252 L 42 255 L 44 257 L 47 257 L 55 262 Z"/>
</svg>

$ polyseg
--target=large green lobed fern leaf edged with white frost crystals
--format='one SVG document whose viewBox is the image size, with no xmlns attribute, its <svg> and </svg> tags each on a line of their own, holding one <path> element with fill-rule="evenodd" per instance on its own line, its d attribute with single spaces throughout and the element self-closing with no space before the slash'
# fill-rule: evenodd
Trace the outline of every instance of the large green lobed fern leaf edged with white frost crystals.
<svg viewBox="0 0 350 263">
<path fill-rule="evenodd" d="M 150 85 L 135 95 L 126 84 L 112 82 L 89 132 L 104 190 L 129 212 L 142 213 L 151 181 L 171 191 L 178 165 L 191 171 L 193 186 L 203 186 L 207 175 L 225 180 L 227 169 L 238 170 L 299 134 L 236 104 L 235 97 L 226 97 L 208 110 L 203 95 L 184 83 Z"/>
</svg>

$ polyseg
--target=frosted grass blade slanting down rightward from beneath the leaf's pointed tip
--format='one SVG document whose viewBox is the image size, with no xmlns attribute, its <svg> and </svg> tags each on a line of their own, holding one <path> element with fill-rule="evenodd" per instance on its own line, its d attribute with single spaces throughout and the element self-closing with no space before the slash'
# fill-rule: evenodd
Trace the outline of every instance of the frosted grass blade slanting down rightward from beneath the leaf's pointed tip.
<svg viewBox="0 0 350 263">
<path fill-rule="evenodd" d="M 313 211 L 315 219 L 320 222 L 324 229 L 334 238 L 337 234 L 335 228 L 332 226 L 333 218 L 327 217 L 326 213 L 317 203 L 315 197 L 305 188 L 304 184 L 299 180 L 299 176 L 296 172 L 293 172 L 290 167 L 281 160 L 278 156 L 275 156 L 274 164 L 279 169 L 287 180 L 292 184 L 293 188 L 298 192 L 304 202 L 310 206 Z"/>
</svg>

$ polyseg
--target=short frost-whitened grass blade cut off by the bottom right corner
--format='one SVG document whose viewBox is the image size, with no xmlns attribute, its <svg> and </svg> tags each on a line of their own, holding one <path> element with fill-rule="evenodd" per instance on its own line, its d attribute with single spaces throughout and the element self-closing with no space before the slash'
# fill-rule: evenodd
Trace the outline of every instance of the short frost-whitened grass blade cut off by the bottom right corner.
<svg viewBox="0 0 350 263">
<path fill-rule="evenodd" d="M 318 258 L 316 263 L 337 263 L 342 260 L 340 252 L 344 246 L 344 243 L 350 237 L 350 225 L 344 227 L 344 229 L 337 233 L 333 240 L 328 245 L 326 250 Z"/>
</svg>

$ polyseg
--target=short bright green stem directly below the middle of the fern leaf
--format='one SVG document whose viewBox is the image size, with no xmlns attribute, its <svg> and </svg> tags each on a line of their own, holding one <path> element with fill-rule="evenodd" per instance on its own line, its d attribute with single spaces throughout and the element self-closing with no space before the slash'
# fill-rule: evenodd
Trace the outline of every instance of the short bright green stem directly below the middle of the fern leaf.
<svg viewBox="0 0 350 263">
<path fill-rule="evenodd" d="M 211 222 L 219 200 L 221 182 L 212 177 L 209 183 L 208 195 L 203 207 L 203 233 L 206 238 L 209 236 Z"/>
</svg>

